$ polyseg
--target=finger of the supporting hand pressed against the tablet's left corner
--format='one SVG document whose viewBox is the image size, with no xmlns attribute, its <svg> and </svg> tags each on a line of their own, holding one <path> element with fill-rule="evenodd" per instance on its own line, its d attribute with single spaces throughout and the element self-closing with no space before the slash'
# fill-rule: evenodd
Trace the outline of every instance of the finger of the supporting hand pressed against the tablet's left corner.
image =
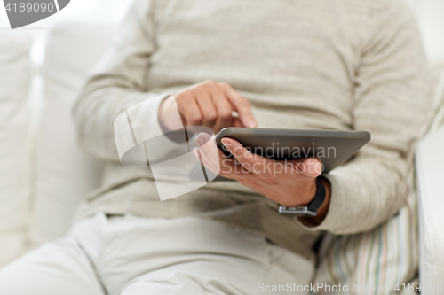
<svg viewBox="0 0 444 295">
<path fill-rule="evenodd" d="M 258 171 L 263 171 L 265 161 L 272 160 L 260 157 L 257 154 L 252 154 L 233 138 L 222 138 L 222 144 L 233 154 L 234 158 L 237 159 L 242 167 L 250 172 L 258 173 Z"/>
</svg>

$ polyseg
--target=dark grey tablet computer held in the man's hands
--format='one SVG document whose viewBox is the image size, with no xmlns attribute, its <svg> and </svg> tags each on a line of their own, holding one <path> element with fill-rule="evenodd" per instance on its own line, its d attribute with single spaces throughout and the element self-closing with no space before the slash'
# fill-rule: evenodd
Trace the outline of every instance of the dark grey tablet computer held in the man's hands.
<svg viewBox="0 0 444 295">
<path fill-rule="evenodd" d="M 357 130 L 224 128 L 216 136 L 216 144 L 223 151 L 224 137 L 234 138 L 249 151 L 266 158 L 317 157 L 322 161 L 323 172 L 344 164 L 371 139 L 369 131 Z"/>
</svg>

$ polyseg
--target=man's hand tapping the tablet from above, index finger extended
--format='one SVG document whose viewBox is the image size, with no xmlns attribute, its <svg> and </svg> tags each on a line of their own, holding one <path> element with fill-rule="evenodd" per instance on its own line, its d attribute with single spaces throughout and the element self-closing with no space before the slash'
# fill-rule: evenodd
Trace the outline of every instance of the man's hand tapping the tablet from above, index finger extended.
<svg viewBox="0 0 444 295">
<path fill-rule="evenodd" d="M 182 122 L 169 120 L 178 109 Z M 233 111 L 238 116 L 233 115 Z M 206 81 L 182 89 L 163 100 L 159 120 L 166 131 L 183 126 L 206 126 L 218 133 L 226 127 L 257 127 L 250 103 L 226 82 Z"/>
</svg>

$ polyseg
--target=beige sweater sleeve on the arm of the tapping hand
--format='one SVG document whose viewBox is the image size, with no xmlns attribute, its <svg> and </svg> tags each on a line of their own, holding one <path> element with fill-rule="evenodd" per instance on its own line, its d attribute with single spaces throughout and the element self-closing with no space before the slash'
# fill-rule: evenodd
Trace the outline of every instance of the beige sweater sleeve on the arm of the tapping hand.
<svg viewBox="0 0 444 295">
<path fill-rule="evenodd" d="M 163 98 L 170 93 L 147 92 L 147 71 L 155 50 L 154 11 L 153 1 L 136 0 L 132 4 L 113 43 L 75 102 L 78 140 L 83 149 L 100 159 L 119 161 L 114 121 L 131 106 L 139 105 L 139 113 L 144 113 L 138 117 L 139 122 L 143 120 L 145 134 L 151 134 L 147 138 L 163 134 L 157 113 Z M 164 146 L 175 149 L 177 144 L 164 137 L 168 141 Z"/>
</svg>

